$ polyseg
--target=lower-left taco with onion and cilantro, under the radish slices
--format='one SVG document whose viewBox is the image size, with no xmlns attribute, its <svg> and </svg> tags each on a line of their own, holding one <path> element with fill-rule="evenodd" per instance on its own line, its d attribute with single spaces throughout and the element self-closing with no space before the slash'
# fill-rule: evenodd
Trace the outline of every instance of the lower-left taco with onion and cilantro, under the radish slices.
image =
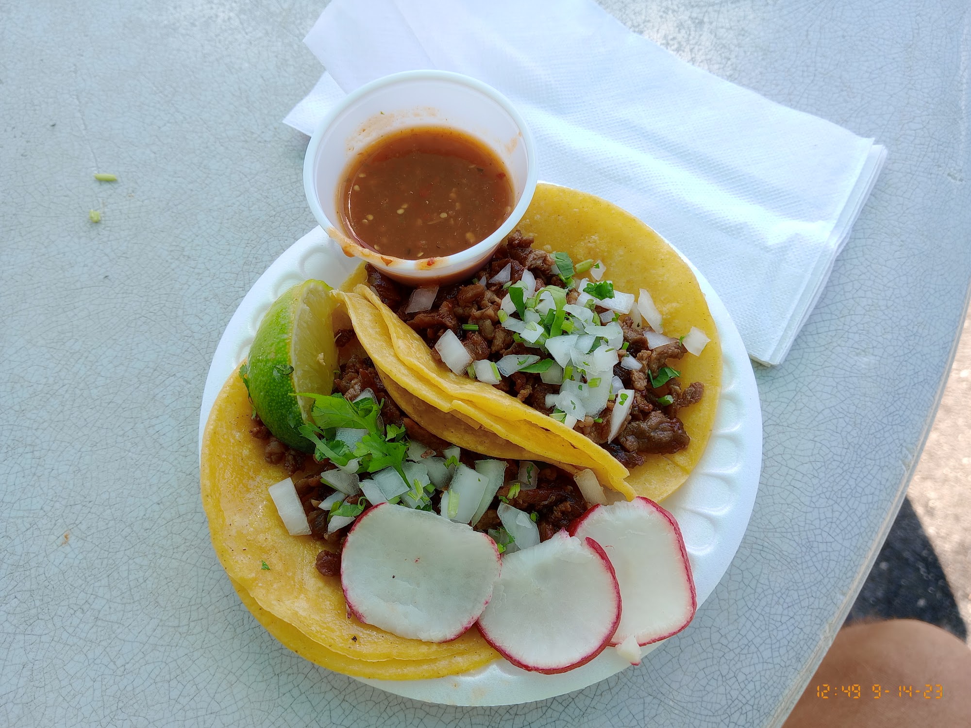
<svg viewBox="0 0 971 728">
<path fill-rule="evenodd" d="M 370 314 L 370 323 L 380 327 L 377 309 Z M 352 614 L 342 589 L 341 552 L 359 516 L 386 500 L 469 523 L 499 551 L 512 551 L 518 541 L 525 546 L 549 540 L 592 504 L 574 480 L 576 468 L 544 462 L 477 420 L 429 404 L 447 397 L 397 359 L 386 338 L 378 340 L 384 347 L 373 348 L 372 359 L 354 328 L 347 328 L 352 320 L 363 331 L 368 320 L 361 315 L 349 319 L 336 307 L 332 319 L 321 322 L 338 361 L 328 363 L 333 392 L 300 392 L 314 403 L 310 421 L 299 428 L 313 454 L 286 446 L 263 423 L 253 409 L 245 367 L 223 385 L 201 456 L 213 546 L 256 619 L 318 665 L 385 679 L 472 670 L 499 656 L 475 627 L 448 642 L 429 642 Z M 365 426 L 349 427 L 341 417 Z M 491 457 L 476 454 L 483 450 Z M 458 474 L 467 476 L 464 484 Z M 305 531 L 291 532 L 292 520 L 284 519 L 271 486 L 292 489 Z M 460 490 L 472 493 L 474 502 L 466 496 L 459 503 Z"/>
</svg>

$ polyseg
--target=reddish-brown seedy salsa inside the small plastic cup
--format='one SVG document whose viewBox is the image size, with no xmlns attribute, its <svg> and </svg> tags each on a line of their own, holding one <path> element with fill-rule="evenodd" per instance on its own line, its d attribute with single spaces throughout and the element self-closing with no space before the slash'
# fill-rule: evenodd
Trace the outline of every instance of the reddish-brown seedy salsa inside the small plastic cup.
<svg viewBox="0 0 971 728">
<path fill-rule="evenodd" d="M 385 255 L 418 260 L 471 248 L 512 211 L 502 160 L 437 126 L 403 129 L 364 149 L 338 190 L 345 231 Z"/>
</svg>

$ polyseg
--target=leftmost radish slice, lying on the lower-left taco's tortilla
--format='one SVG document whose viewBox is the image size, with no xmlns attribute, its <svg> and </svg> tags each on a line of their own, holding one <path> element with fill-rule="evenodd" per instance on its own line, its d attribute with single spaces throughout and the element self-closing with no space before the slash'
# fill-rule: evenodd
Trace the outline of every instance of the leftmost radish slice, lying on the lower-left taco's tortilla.
<svg viewBox="0 0 971 728">
<path fill-rule="evenodd" d="M 448 642 L 479 618 L 499 569 L 485 534 L 384 503 L 358 516 L 348 534 L 341 586 L 362 622 L 399 637 Z"/>
</svg>

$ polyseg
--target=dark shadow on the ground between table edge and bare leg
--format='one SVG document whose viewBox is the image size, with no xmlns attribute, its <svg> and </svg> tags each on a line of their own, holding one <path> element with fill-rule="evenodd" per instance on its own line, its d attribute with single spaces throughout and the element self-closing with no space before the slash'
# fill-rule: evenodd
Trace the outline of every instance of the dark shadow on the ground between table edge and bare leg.
<svg viewBox="0 0 971 728">
<path fill-rule="evenodd" d="M 904 499 L 846 624 L 890 618 L 920 619 L 967 638 L 944 569 L 909 499 Z"/>
</svg>

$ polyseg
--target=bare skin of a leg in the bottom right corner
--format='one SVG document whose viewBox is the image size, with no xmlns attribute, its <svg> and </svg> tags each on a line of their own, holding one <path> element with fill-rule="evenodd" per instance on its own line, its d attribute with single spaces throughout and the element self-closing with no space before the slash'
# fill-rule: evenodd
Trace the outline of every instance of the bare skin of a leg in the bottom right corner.
<svg viewBox="0 0 971 728">
<path fill-rule="evenodd" d="M 817 694 L 823 684 L 829 685 L 827 699 Z M 882 687 L 880 698 L 875 684 Z M 859 698 L 843 692 L 844 685 L 858 685 Z M 907 695 L 908 685 L 913 697 Z M 943 629 L 913 619 L 844 627 L 783 728 L 820 726 L 971 726 L 971 649 Z"/>
</svg>

